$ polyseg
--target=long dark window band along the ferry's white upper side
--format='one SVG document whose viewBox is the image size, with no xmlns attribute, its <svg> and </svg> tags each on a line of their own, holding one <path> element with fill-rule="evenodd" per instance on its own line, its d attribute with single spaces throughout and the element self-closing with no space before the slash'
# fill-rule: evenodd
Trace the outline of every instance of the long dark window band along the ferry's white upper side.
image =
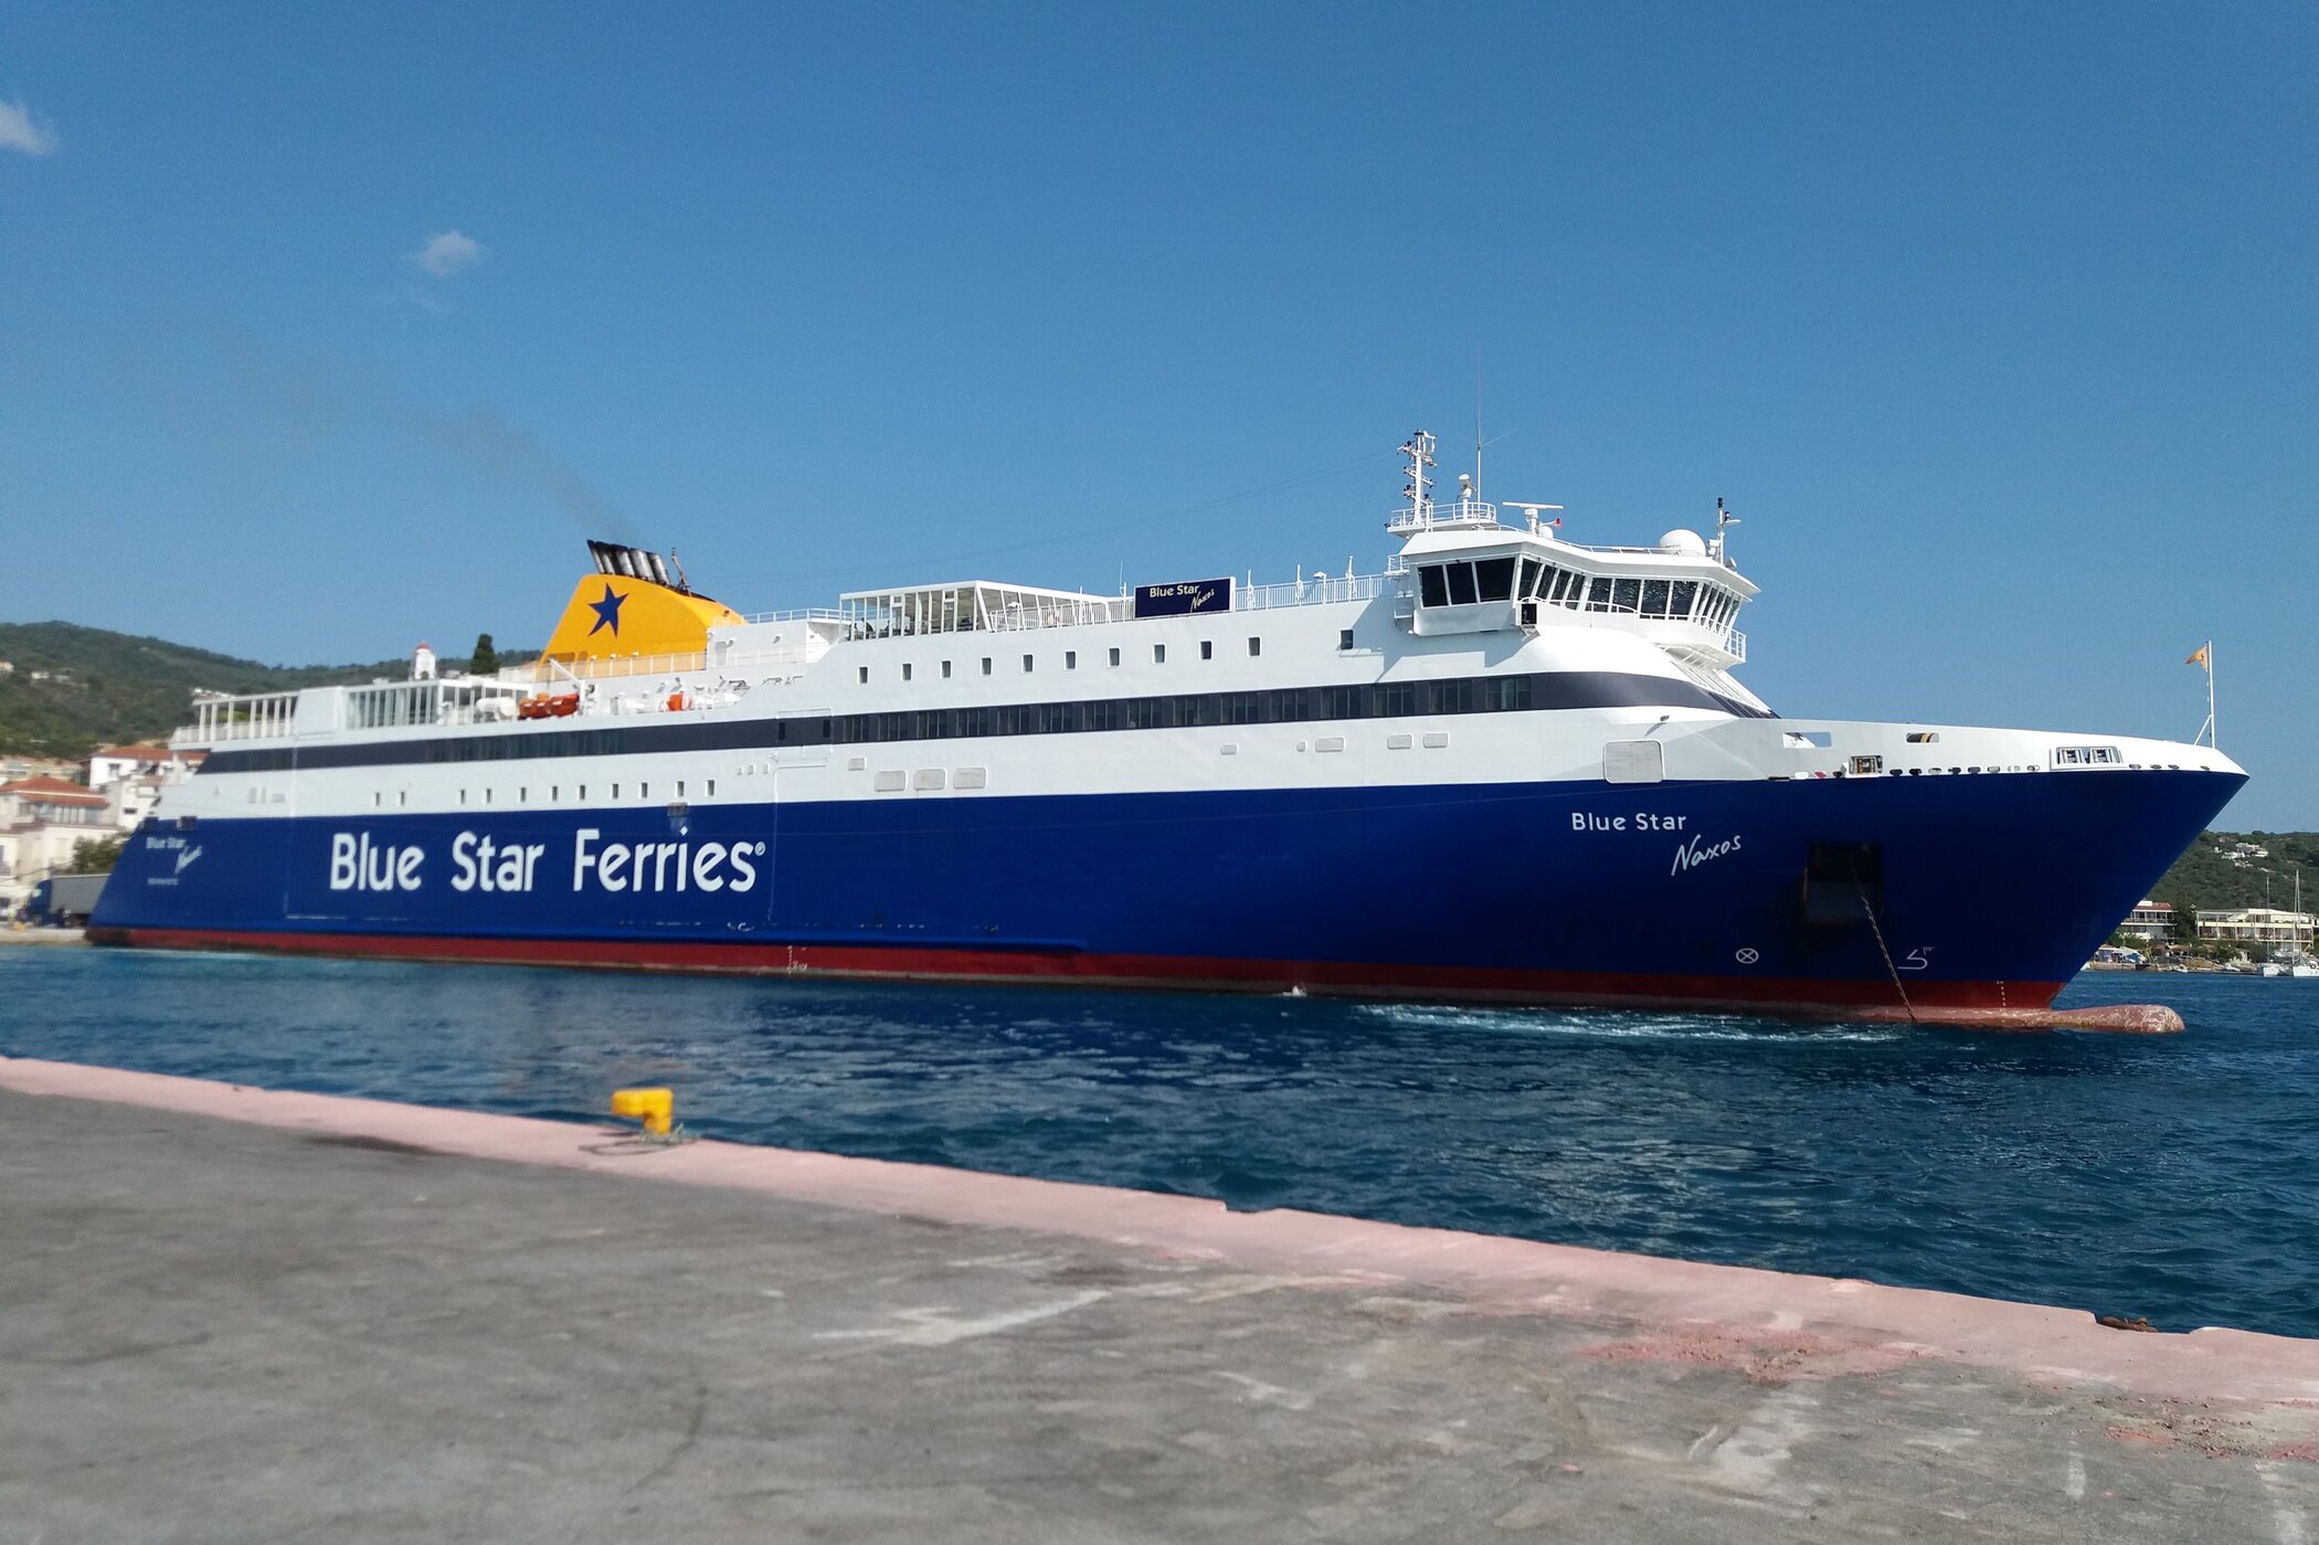
<svg viewBox="0 0 2319 1545">
<path fill-rule="evenodd" d="M 371 768 L 394 763 L 522 761 L 536 756 L 635 756 L 649 752 L 719 752 L 768 745 L 1055 735 L 1208 724 L 1299 724 L 1308 719 L 1405 719 L 1412 715 L 1519 712 L 1533 708 L 1707 708 L 1744 717 L 1769 717 L 1762 710 L 1718 698 L 1704 687 L 1670 677 L 1614 670 L 1549 670 L 1531 675 L 1475 675 L 1445 682 L 1194 691 L 1153 698 L 918 708 L 877 715 L 795 715 L 786 719 L 726 719 L 717 724 L 457 733 L 429 740 L 322 745 L 297 752 L 288 747 L 218 749 L 202 763 L 202 772 L 269 772 L 292 766 Z"/>
</svg>

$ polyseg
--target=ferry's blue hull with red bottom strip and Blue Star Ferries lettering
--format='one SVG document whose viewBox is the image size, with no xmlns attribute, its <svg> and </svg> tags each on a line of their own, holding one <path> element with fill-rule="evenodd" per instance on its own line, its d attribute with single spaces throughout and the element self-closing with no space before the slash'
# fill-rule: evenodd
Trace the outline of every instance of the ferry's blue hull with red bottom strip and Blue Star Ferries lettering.
<svg viewBox="0 0 2319 1545">
<path fill-rule="evenodd" d="M 199 819 L 132 837 L 90 937 L 2006 1018 L 2052 1002 L 2240 782 L 2103 770 Z"/>
</svg>

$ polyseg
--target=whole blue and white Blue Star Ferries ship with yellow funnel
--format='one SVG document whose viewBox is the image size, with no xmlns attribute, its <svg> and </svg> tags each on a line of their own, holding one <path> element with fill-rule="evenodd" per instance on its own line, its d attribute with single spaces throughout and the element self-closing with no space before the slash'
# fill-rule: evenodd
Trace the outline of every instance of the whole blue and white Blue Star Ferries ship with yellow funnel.
<svg viewBox="0 0 2319 1545">
<path fill-rule="evenodd" d="M 1435 496 L 1382 573 L 740 615 L 589 543 L 529 666 L 204 696 L 104 944 L 2004 1023 L 2245 772 L 1776 717 L 1711 536 Z M 1447 489 L 1440 489 L 1447 494 Z"/>
</svg>

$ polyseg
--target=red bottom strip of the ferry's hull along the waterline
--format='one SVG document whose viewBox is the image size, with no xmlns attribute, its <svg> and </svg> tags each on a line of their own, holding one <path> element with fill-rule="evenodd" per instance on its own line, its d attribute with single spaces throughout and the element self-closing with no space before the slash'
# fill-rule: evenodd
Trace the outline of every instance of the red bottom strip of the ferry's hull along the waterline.
<svg viewBox="0 0 2319 1545">
<path fill-rule="evenodd" d="M 2059 981 L 1813 981 L 1802 977 L 1642 977 L 1345 960 L 1227 960 L 1095 956 L 1078 951 L 874 949 L 844 944 L 721 944 L 675 940 L 492 940 L 378 933 L 255 933 L 211 928 L 90 928 L 93 944 L 239 949 L 295 956 L 390 956 L 471 965 L 577 965 L 747 977 L 865 981 L 988 981 L 1215 993 L 1306 991 L 1340 998 L 1480 1004 L 1714 1009 L 1786 1018 L 1851 1018 L 2043 1030 L 2180 1030 L 2152 1011 L 2055 1011 Z M 2117 1023 L 2113 1023 L 2117 1021 Z M 2131 1021 L 2131 1023 L 2127 1023 Z"/>
</svg>

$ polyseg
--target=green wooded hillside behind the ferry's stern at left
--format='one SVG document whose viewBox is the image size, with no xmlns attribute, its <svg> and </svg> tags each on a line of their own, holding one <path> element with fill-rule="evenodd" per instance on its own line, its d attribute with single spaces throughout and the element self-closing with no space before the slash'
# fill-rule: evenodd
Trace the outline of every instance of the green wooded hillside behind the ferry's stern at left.
<svg viewBox="0 0 2319 1545">
<path fill-rule="evenodd" d="M 401 680 L 401 659 L 364 666 L 260 666 L 250 659 L 190 650 L 165 638 L 137 638 L 70 622 L 0 622 L 0 752 L 88 756 L 102 745 L 160 740 L 188 721 L 195 689 L 290 691 Z M 526 659 L 501 652 L 501 663 Z M 457 666 L 457 659 L 443 661 Z M 35 682 L 35 673 L 49 680 Z"/>
</svg>

